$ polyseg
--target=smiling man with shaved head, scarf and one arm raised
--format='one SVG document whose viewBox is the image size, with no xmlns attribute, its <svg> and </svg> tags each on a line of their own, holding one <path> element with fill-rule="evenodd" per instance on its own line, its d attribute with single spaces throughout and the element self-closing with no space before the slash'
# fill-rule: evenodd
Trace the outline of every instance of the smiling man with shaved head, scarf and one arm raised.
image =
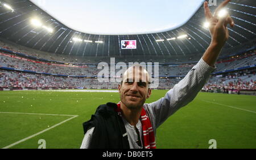
<svg viewBox="0 0 256 160">
<path fill-rule="evenodd" d="M 139 65 L 128 68 L 118 86 L 120 102 L 100 105 L 92 118 L 83 123 L 85 136 L 81 148 L 156 148 L 156 128 L 191 102 L 216 68 L 214 63 L 229 37 L 227 25 L 234 27 L 229 14 L 219 16 L 229 1 L 222 2 L 214 14 L 208 2 L 204 2 L 212 41 L 184 79 L 158 101 L 144 103 L 151 96 L 147 71 Z"/>
</svg>

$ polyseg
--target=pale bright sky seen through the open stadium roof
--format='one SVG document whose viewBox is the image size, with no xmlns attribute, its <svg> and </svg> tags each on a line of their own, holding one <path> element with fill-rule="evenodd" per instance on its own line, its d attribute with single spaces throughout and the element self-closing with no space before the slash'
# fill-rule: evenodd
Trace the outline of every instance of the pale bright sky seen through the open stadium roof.
<svg viewBox="0 0 256 160">
<path fill-rule="evenodd" d="M 147 34 L 186 23 L 204 0 L 31 0 L 53 18 L 90 34 Z"/>
</svg>

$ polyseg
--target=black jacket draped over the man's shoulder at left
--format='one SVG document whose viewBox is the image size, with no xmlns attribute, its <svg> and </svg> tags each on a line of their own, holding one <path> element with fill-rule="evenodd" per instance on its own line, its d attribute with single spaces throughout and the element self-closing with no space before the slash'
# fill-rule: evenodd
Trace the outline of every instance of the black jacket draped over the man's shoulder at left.
<svg viewBox="0 0 256 160">
<path fill-rule="evenodd" d="M 130 148 L 125 124 L 115 109 L 117 104 L 112 102 L 100 105 L 92 118 L 82 124 L 84 133 L 94 127 L 89 148 Z"/>
</svg>

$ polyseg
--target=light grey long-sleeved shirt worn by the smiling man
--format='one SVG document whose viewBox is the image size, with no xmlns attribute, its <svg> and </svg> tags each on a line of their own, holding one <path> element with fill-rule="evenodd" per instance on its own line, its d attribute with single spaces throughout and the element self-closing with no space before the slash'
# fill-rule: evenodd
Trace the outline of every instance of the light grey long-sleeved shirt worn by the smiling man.
<svg viewBox="0 0 256 160">
<path fill-rule="evenodd" d="M 152 103 L 145 103 L 143 105 L 146 110 L 147 116 L 150 118 L 154 135 L 156 136 L 156 128 L 158 128 L 169 116 L 174 114 L 178 109 L 187 105 L 191 102 L 197 95 L 197 93 L 203 88 L 204 84 L 207 82 L 210 73 L 212 73 L 216 67 L 210 67 L 201 58 L 199 62 L 192 67 L 192 69 L 187 73 L 187 75 L 177 83 L 174 88 L 168 90 L 164 97 L 160 98 L 158 101 Z M 127 131 L 128 141 L 130 148 L 141 148 L 138 146 L 138 136 L 135 128 L 129 124 L 125 118 L 123 118 L 123 123 Z M 136 124 L 141 136 L 141 141 L 143 139 L 142 123 L 141 120 Z M 90 139 L 92 137 L 94 128 L 90 128 L 82 140 L 81 148 L 88 148 L 90 145 Z"/>
</svg>

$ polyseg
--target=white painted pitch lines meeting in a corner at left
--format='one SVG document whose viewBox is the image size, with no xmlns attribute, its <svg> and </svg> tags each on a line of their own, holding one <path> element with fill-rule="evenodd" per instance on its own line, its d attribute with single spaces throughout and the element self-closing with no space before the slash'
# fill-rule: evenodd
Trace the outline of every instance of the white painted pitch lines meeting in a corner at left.
<svg viewBox="0 0 256 160">
<path fill-rule="evenodd" d="M 19 143 L 21 143 L 21 142 L 24 142 L 24 141 L 26 141 L 26 140 L 28 140 L 28 139 L 31 139 L 32 137 L 38 136 L 38 135 L 40 135 L 41 133 L 46 132 L 46 131 L 49 131 L 49 129 L 55 128 L 55 127 L 59 126 L 60 124 L 63 124 L 63 123 L 65 123 L 65 122 L 68 122 L 68 120 L 71 120 L 71 119 L 76 118 L 76 117 L 78 116 L 78 115 L 64 115 L 64 114 L 40 114 L 40 113 L 39 113 L 39 114 L 35 114 L 35 113 L 10 113 L 10 112 L 0 112 L 0 113 L 72 116 L 71 118 L 66 119 L 66 120 L 64 120 L 64 121 L 62 121 L 62 122 L 60 122 L 60 123 L 57 123 L 57 124 L 55 124 L 55 125 L 54 125 L 54 126 L 52 126 L 52 127 L 49 127 L 49 128 L 47 128 L 47 129 L 44 129 L 43 131 L 40 131 L 40 132 L 38 132 L 38 133 L 35 133 L 34 135 L 28 136 L 28 137 L 26 137 L 26 138 L 24 138 L 24 139 L 22 139 L 22 140 L 16 141 L 16 142 L 14 142 L 13 144 L 7 145 L 7 146 L 3 147 L 2 149 L 11 148 L 11 147 L 12 147 L 12 146 L 14 146 L 14 145 L 17 145 L 17 144 L 19 144 Z"/>
</svg>

